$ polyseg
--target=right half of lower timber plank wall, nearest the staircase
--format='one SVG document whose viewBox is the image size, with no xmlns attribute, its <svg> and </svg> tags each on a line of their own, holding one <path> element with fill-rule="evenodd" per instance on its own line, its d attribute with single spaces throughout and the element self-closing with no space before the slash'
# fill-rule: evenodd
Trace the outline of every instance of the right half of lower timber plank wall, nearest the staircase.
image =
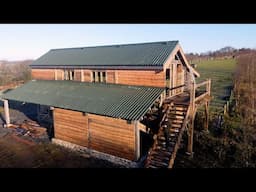
<svg viewBox="0 0 256 192">
<path fill-rule="evenodd" d="M 134 124 L 89 114 L 89 147 L 104 153 L 135 159 Z"/>
</svg>

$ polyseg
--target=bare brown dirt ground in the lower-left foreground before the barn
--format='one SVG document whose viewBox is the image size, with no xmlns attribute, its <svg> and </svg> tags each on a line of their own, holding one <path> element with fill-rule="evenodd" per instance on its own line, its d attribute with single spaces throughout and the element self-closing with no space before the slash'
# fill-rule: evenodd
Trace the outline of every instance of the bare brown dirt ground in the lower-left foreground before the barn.
<svg viewBox="0 0 256 192">
<path fill-rule="evenodd" d="M 0 167 L 117 168 L 118 166 L 86 154 L 81 156 L 51 143 L 26 142 L 26 140 L 8 133 L 0 138 Z"/>
</svg>

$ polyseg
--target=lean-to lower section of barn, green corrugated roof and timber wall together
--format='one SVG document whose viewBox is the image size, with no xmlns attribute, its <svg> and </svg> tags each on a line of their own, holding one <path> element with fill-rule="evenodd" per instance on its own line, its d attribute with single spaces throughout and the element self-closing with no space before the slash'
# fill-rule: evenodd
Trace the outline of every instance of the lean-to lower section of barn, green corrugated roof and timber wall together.
<svg viewBox="0 0 256 192">
<path fill-rule="evenodd" d="M 8 100 L 47 106 L 39 108 L 43 114 L 38 119 L 53 117 L 53 138 L 137 161 L 145 154 L 140 135 L 146 129 L 140 121 L 156 101 L 161 103 L 164 92 L 157 87 L 33 80 L 2 98 L 6 114 Z"/>
</svg>

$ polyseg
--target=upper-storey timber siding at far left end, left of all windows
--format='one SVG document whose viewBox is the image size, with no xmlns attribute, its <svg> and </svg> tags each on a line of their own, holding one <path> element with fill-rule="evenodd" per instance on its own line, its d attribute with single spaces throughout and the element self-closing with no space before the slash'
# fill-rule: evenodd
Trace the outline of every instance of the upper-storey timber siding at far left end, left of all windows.
<svg viewBox="0 0 256 192">
<path fill-rule="evenodd" d="M 32 79 L 55 80 L 54 69 L 32 69 Z"/>
</svg>

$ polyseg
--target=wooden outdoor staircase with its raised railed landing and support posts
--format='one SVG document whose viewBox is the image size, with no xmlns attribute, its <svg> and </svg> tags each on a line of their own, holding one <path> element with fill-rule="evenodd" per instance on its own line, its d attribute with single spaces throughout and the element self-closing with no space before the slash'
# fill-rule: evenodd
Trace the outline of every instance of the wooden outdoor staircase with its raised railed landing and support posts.
<svg viewBox="0 0 256 192">
<path fill-rule="evenodd" d="M 196 88 L 203 85 L 206 85 L 206 91 L 196 92 Z M 200 85 L 193 84 L 189 93 L 184 92 L 165 99 L 164 116 L 159 124 L 159 131 L 154 136 L 154 144 L 149 150 L 146 168 L 172 168 L 185 130 L 188 134 L 188 153 L 192 154 L 196 110 L 205 104 L 205 112 L 208 116 L 210 98 L 210 80 L 208 80 Z M 207 129 L 208 117 L 206 121 Z"/>
</svg>

